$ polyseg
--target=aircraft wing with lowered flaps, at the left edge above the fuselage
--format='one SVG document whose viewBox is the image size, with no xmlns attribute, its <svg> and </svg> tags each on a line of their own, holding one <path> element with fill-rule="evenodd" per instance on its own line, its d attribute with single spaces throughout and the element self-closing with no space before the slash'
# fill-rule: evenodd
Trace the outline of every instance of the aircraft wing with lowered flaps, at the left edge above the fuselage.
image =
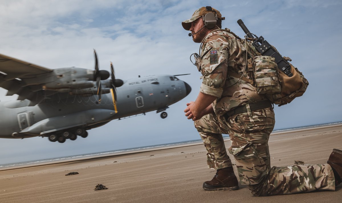
<svg viewBox="0 0 342 203">
<path fill-rule="evenodd" d="M 0 87 L 8 90 L 7 96 L 17 94 L 18 100 L 31 100 L 31 105 L 44 99 L 42 88 L 39 85 L 26 85 L 21 78 L 36 78 L 40 74 L 52 71 L 52 69 L 0 54 Z"/>
</svg>

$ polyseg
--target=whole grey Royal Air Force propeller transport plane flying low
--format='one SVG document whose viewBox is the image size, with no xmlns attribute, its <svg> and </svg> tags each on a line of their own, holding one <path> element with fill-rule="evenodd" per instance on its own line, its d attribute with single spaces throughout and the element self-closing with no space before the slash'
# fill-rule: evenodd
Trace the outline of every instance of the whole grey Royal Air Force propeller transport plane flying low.
<svg viewBox="0 0 342 203">
<path fill-rule="evenodd" d="M 48 137 L 64 143 L 87 130 L 150 111 L 161 113 L 186 97 L 190 86 L 178 75 L 116 79 L 99 70 L 48 69 L 0 54 L 0 87 L 16 101 L 0 102 L 0 138 Z M 110 76 L 110 79 L 108 77 Z M 117 93 L 116 93 L 117 92 Z"/>
</svg>

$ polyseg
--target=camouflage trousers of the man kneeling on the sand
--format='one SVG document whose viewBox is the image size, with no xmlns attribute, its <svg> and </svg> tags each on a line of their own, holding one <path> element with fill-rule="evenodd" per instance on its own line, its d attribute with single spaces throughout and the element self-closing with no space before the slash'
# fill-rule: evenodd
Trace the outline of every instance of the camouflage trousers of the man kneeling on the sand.
<svg viewBox="0 0 342 203">
<path fill-rule="evenodd" d="M 226 119 L 208 114 L 195 121 L 207 149 L 210 169 L 232 165 L 222 134 L 229 134 L 232 146 L 228 151 L 236 161 L 240 183 L 253 195 L 292 194 L 314 190 L 335 190 L 335 178 L 329 164 L 270 166 L 268 138 L 275 120 L 271 107 L 237 114 Z"/>
</svg>

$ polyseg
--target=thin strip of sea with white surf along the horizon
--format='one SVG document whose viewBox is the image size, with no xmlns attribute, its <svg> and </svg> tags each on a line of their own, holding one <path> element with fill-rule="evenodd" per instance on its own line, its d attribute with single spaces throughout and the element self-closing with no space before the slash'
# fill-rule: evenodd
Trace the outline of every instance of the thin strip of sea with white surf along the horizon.
<svg viewBox="0 0 342 203">
<path fill-rule="evenodd" d="M 309 126 L 300 126 L 300 127 L 293 127 L 293 128 L 282 128 L 282 129 L 275 129 L 273 130 L 273 133 L 275 132 L 281 132 L 281 131 L 287 131 L 287 130 L 299 130 L 299 129 L 305 129 L 305 128 L 313 128 L 313 127 L 323 127 L 323 126 L 331 126 L 331 125 L 337 125 L 342 124 L 342 121 L 338 122 L 330 122 L 325 124 L 315 124 L 315 125 L 309 125 Z M 224 138 L 229 138 L 229 135 L 224 135 Z M 15 162 L 15 163 L 6 163 L 6 164 L 0 164 L 0 170 L 5 168 L 20 168 L 25 167 L 25 165 L 43 165 L 46 163 L 51 162 L 63 162 L 73 159 L 86 159 L 91 158 L 95 156 L 105 156 L 105 155 L 111 155 L 111 154 L 118 154 L 118 153 L 134 153 L 134 151 L 141 151 L 141 150 L 153 150 L 154 148 L 159 147 L 177 147 L 180 145 L 186 145 L 186 144 L 199 144 L 202 143 L 202 140 L 189 140 L 189 141 L 182 141 L 182 142 L 173 142 L 173 143 L 167 143 L 167 144 L 159 144 L 159 145 L 150 145 L 150 146 L 142 146 L 142 147 L 134 147 L 134 148 L 127 148 L 127 149 L 117 149 L 117 150 L 111 150 L 111 151 L 100 151 L 95 153 L 88 153 L 88 154 L 80 154 L 80 155 L 71 155 L 71 156 L 65 156 L 65 157 L 55 157 L 55 158 L 48 158 L 48 159 L 39 159 L 39 160 L 30 160 L 30 161 L 22 161 L 22 162 Z"/>
</svg>

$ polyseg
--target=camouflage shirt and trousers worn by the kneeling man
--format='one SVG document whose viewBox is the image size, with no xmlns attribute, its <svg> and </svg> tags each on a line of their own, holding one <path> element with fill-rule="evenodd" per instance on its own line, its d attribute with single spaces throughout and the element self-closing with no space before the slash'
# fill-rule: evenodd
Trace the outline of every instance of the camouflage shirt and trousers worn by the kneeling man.
<svg viewBox="0 0 342 203">
<path fill-rule="evenodd" d="M 244 40 L 229 30 L 216 30 L 203 39 L 201 47 L 202 84 L 200 91 L 217 97 L 214 113 L 195 121 L 205 147 L 210 169 L 231 166 L 222 134 L 229 134 L 228 149 L 236 160 L 240 183 L 248 185 L 253 195 L 276 195 L 334 190 L 335 179 L 329 164 L 270 166 L 268 138 L 275 124 L 272 107 L 251 111 L 250 104 L 268 101 L 257 88 L 230 72 L 249 78 Z M 250 58 L 250 56 L 248 56 Z M 250 63 L 251 61 L 247 61 Z M 228 68 L 227 68 L 228 67 Z M 227 111 L 246 105 L 247 112 L 224 116 Z"/>
</svg>

